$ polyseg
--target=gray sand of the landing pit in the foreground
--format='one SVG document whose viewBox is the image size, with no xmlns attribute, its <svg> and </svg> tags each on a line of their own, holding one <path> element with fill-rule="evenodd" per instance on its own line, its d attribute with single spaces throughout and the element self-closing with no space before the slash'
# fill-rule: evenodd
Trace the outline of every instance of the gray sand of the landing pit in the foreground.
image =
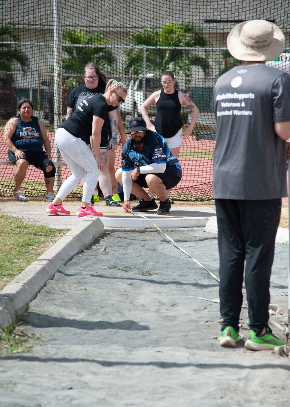
<svg viewBox="0 0 290 407">
<path fill-rule="evenodd" d="M 218 276 L 216 235 L 168 234 Z M 138 274 L 149 269 L 156 274 Z M 288 247 L 277 244 L 276 322 L 286 319 L 287 275 Z M 97 239 L 30 303 L 24 330 L 45 336 L 0 359 L 1 407 L 289 406 L 290 359 L 246 351 L 243 340 L 220 347 L 219 305 L 197 297 L 217 299 L 218 283 L 159 233 Z M 241 323 L 246 338 L 246 309 Z"/>
</svg>

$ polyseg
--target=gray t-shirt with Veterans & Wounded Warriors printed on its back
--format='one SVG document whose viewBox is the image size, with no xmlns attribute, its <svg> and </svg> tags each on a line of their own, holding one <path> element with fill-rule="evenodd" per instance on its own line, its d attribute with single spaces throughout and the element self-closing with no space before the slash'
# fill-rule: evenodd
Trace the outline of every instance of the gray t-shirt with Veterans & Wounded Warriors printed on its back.
<svg viewBox="0 0 290 407">
<path fill-rule="evenodd" d="M 290 121 L 290 77 L 258 64 L 237 66 L 214 88 L 214 198 L 287 196 L 286 142 L 275 122 Z"/>
</svg>

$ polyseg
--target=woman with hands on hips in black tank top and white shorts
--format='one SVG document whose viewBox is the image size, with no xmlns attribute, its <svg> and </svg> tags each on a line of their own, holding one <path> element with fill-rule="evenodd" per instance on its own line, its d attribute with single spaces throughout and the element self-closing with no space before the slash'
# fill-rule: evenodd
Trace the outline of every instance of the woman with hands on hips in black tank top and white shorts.
<svg viewBox="0 0 290 407">
<path fill-rule="evenodd" d="M 156 131 L 165 139 L 170 151 L 178 158 L 182 140 L 186 140 L 192 133 L 199 110 L 190 98 L 180 90 L 174 90 L 176 79 L 174 73 L 166 70 L 161 75 L 161 90 L 157 90 L 141 105 L 141 113 L 147 128 Z M 156 103 L 155 124 L 150 122 L 147 109 Z M 181 105 L 185 105 L 192 112 L 192 118 L 187 129 L 182 130 Z M 167 191 L 168 193 L 169 191 Z M 151 194 L 150 194 L 151 195 Z"/>
</svg>

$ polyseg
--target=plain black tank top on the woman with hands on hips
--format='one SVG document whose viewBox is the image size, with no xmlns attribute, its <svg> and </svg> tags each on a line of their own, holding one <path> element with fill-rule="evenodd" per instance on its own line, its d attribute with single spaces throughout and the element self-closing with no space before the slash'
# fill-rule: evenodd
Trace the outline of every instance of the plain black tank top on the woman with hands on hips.
<svg viewBox="0 0 290 407">
<path fill-rule="evenodd" d="M 178 90 L 168 94 L 162 89 L 156 106 L 157 113 L 154 125 L 157 133 L 161 134 L 164 138 L 175 136 L 182 127 Z"/>
</svg>

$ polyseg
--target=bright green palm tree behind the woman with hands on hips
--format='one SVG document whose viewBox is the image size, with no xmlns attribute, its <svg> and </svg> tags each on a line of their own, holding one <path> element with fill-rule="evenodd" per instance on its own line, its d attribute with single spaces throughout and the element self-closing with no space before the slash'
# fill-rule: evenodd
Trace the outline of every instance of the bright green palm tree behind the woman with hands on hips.
<svg viewBox="0 0 290 407">
<path fill-rule="evenodd" d="M 172 47 L 205 47 L 209 46 L 209 39 L 203 35 L 201 28 L 191 22 L 176 24 L 170 22 L 164 25 L 161 31 L 153 28 L 144 28 L 133 33 L 126 45 L 153 46 L 155 49 L 146 50 L 146 73 L 159 74 L 170 69 L 177 74 L 190 75 L 193 65 L 200 66 L 205 75 L 209 74 L 209 61 L 207 58 L 193 54 L 189 50 L 174 49 Z M 167 49 L 157 48 L 166 46 Z M 140 75 L 143 73 L 143 49 L 127 48 L 125 51 L 124 73 L 127 75 Z"/>
</svg>

